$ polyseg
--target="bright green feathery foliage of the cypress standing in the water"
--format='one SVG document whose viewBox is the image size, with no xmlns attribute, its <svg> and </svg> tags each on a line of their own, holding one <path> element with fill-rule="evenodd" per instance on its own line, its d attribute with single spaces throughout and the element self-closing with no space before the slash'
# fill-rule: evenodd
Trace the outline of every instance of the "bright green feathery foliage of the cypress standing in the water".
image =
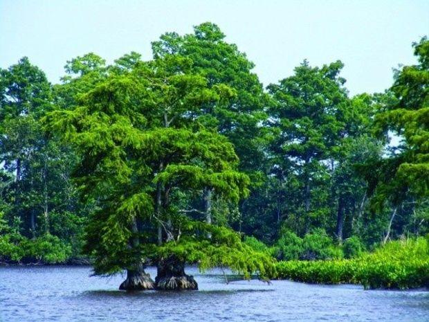
<svg viewBox="0 0 429 322">
<path fill-rule="evenodd" d="M 100 68 L 96 57 L 86 58 L 71 62 L 70 71 L 81 71 L 84 78 Z M 186 224 L 181 198 L 210 188 L 236 204 L 248 194 L 249 179 L 236 169 L 232 144 L 197 121 L 204 105 L 228 102 L 236 92 L 226 84 L 209 87 L 192 60 L 181 55 L 151 62 L 132 55 L 119 63 L 125 66 L 108 69 L 105 80 L 76 98 L 80 106 L 44 118 L 46 129 L 80 156 L 73 177 L 82 197 L 97 200 L 84 249 L 95 258 L 96 274 L 113 274 L 169 252 L 208 265 L 207 250 L 219 229 Z M 166 240 L 155 246 L 158 225 Z M 213 240 L 201 230 L 212 231 Z M 227 235 L 218 239 L 224 253 L 228 247 L 246 251 L 238 235 L 229 233 L 234 242 Z M 215 250 L 212 256 L 218 256 Z M 247 267 L 239 254 L 237 269 L 254 271 L 255 264 Z"/>
</svg>

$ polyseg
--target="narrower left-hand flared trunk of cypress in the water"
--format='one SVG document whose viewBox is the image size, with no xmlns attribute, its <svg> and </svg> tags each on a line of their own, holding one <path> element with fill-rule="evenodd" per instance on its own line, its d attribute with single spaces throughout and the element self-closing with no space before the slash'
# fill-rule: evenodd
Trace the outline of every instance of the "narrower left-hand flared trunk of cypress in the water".
<svg viewBox="0 0 429 322">
<path fill-rule="evenodd" d="M 136 249 L 140 244 L 136 218 L 133 220 L 131 231 L 134 233 L 130 241 L 131 247 Z M 145 272 L 145 265 L 139 261 L 134 267 L 127 269 L 127 278 L 120 284 L 119 289 L 125 291 L 139 291 L 143 289 L 154 289 L 154 287 L 154 281 L 150 278 L 149 274 Z"/>
</svg>

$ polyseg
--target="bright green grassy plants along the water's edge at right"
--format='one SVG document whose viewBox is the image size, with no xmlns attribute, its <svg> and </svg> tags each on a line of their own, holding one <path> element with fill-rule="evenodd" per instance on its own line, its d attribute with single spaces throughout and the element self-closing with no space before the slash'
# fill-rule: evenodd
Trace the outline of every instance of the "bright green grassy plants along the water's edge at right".
<svg viewBox="0 0 429 322">
<path fill-rule="evenodd" d="M 277 263 L 277 278 L 306 283 L 361 284 L 366 289 L 429 287 L 429 238 L 388 242 L 349 260 Z"/>
</svg>

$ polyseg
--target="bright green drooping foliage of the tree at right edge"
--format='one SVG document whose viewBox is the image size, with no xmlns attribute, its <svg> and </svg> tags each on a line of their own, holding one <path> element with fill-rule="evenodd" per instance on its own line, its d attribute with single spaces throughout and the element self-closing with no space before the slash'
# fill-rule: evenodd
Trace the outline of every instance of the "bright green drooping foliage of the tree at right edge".
<svg viewBox="0 0 429 322">
<path fill-rule="evenodd" d="M 427 197 L 429 191 L 426 179 L 429 173 L 429 41 L 423 37 L 413 46 L 419 64 L 396 71 L 390 89 L 396 100 L 382 109 L 375 119 L 379 132 L 388 129 L 404 139 L 404 144 L 399 147 L 400 154 L 390 157 L 388 168 L 394 171 L 390 171 L 388 181 L 381 178 L 378 184 L 378 199 L 383 198 L 379 193 L 388 187 L 391 190 L 397 186 L 406 187 L 415 197 Z M 392 195 L 397 194 L 385 194 L 384 197 L 392 199 Z M 403 199 L 405 197 L 407 195 L 403 194 Z"/>
</svg>

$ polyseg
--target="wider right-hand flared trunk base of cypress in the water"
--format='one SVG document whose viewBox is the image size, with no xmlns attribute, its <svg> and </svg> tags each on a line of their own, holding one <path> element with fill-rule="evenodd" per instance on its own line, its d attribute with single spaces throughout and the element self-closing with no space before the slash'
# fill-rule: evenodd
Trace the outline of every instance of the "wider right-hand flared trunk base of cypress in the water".
<svg viewBox="0 0 429 322">
<path fill-rule="evenodd" d="M 194 277 L 185 274 L 185 262 L 174 255 L 159 260 L 155 283 L 161 290 L 198 289 Z"/>
</svg>

